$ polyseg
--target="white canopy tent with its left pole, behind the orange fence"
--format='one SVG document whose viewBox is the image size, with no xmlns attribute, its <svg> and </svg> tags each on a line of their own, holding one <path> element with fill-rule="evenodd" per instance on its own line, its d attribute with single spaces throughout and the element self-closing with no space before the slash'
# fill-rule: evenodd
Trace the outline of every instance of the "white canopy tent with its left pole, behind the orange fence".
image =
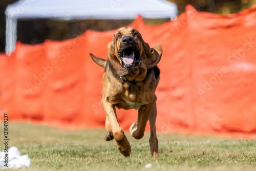
<svg viewBox="0 0 256 171">
<path fill-rule="evenodd" d="M 134 19 L 176 18 L 176 4 L 165 0 L 20 0 L 6 14 L 6 53 L 15 50 L 17 19 Z"/>
</svg>

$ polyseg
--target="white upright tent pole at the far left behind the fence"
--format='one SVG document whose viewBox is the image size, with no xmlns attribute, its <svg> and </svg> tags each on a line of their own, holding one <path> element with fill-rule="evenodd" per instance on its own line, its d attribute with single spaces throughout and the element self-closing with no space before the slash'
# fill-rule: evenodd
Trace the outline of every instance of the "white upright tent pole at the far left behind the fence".
<svg viewBox="0 0 256 171">
<path fill-rule="evenodd" d="M 17 19 L 6 17 L 5 53 L 10 55 L 15 50 L 17 40 Z"/>
</svg>

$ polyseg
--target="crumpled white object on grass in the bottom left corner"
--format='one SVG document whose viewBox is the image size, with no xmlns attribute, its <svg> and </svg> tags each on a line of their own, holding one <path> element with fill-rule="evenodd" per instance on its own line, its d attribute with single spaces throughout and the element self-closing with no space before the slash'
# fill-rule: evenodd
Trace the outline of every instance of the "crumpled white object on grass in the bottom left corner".
<svg viewBox="0 0 256 171">
<path fill-rule="evenodd" d="M 13 146 L 8 150 L 8 153 L 5 153 L 6 150 L 0 153 L 0 169 L 7 169 L 7 168 L 25 168 L 31 166 L 31 161 L 28 155 L 20 155 L 18 148 Z M 8 157 L 8 160 L 5 159 Z"/>
</svg>

